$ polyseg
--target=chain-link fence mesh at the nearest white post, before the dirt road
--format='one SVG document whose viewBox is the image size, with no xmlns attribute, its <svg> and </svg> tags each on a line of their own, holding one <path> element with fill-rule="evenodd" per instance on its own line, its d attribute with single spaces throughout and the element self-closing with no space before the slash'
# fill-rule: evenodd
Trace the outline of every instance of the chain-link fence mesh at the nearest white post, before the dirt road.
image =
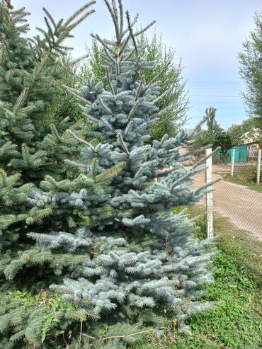
<svg viewBox="0 0 262 349">
<path fill-rule="evenodd" d="M 261 265 L 262 257 L 262 183 L 261 151 L 252 149 L 241 154 L 243 149 L 222 154 L 220 151 L 212 156 L 212 180 L 215 183 L 212 192 L 212 207 L 203 198 L 198 209 L 207 215 L 214 235 L 219 235 L 226 246 L 246 253 L 249 265 Z M 204 156 L 204 154 L 201 154 Z M 195 175 L 193 188 L 206 183 L 205 171 Z M 244 251 L 244 252 L 243 252 Z"/>
</svg>

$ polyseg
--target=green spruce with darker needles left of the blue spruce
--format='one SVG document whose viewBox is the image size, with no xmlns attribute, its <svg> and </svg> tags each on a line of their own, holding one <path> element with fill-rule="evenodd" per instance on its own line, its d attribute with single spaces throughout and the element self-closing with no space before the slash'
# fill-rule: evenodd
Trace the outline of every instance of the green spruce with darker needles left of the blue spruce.
<svg viewBox="0 0 262 349">
<path fill-rule="evenodd" d="M 50 207 L 30 207 L 28 193 L 47 174 L 62 179 L 63 160 L 78 149 L 66 131 L 71 127 L 78 134 L 79 125 L 68 118 L 49 125 L 46 113 L 52 96 L 67 82 L 65 67 L 56 64 L 68 50 L 64 40 L 93 13 L 92 4 L 57 23 L 44 9 L 47 29 L 38 28 L 42 36 L 31 40 L 25 8 L 14 10 L 10 1 L 0 2 L 0 271 L 7 278 L 13 275 L 6 269 L 11 261 L 15 264 L 20 251 L 32 246 L 28 225 L 52 227 L 52 219 L 43 220 L 52 213 Z M 22 267 L 17 262 L 15 269 Z"/>
</svg>

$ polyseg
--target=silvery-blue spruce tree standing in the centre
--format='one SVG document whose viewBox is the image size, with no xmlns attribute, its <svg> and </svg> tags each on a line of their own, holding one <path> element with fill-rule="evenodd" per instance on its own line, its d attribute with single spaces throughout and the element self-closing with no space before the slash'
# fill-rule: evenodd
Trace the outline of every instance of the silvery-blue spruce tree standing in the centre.
<svg viewBox="0 0 262 349">
<path fill-rule="evenodd" d="M 122 1 L 118 0 L 118 8 L 115 0 L 105 3 L 113 18 L 115 38 L 94 38 L 103 46 L 106 88 L 90 79 L 79 92 L 86 100 L 86 118 L 93 123 L 91 136 L 101 143 L 86 142 L 69 132 L 84 149 L 82 161 L 67 164 L 89 173 L 95 182 L 114 174 L 112 188 L 101 200 L 97 193 L 90 197 L 79 191 L 81 185 L 76 183 L 77 194 L 69 200 L 63 193 L 64 185 L 52 180 L 44 193 L 30 198 L 39 207 L 49 198 L 61 210 L 65 201 L 89 213 L 75 232 L 32 232 L 29 236 L 37 241 L 40 253 L 52 255 L 54 268 L 65 276 L 51 289 L 77 304 L 83 314 L 100 319 L 89 321 L 85 328 L 95 340 L 95 348 L 98 336 L 94 329 L 104 324 L 113 325 L 108 338 L 115 336 L 114 324 L 125 324 L 121 335 L 118 328 L 118 337 L 126 338 L 131 328 L 163 324 L 166 316 L 175 317 L 181 330 L 188 331 L 188 316 L 210 307 L 197 299 L 204 292 L 201 287 L 212 282 L 207 266 L 214 253 L 207 250 L 212 241 L 193 237 L 198 228 L 185 211 L 171 212 L 173 207 L 193 205 L 211 190 L 207 185 L 189 188 L 190 176 L 205 168 L 204 159 L 191 168 L 183 166 L 193 153 L 181 156 L 178 152 L 193 133 L 183 131 L 174 138 L 165 135 L 160 141 L 145 144 L 150 127 L 160 116 L 155 103 L 165 95 L 159 95 L 156 81 L 167 69 L 166 65 L 151 81 L 139 78 L 139 72 L 152 69 L 153 64 L 139 55 L 137 37 L 154 22 L 135 30 L 138 16 L 131 21 L 127 11 L 124 28 Z M 166 178 L 155 183 L 156 172 L 162 168 L 166 168 Z M 69 270 L 57 267 L 57 253 L 63 251 L 63 258 L 73 261 L 83 250 L 86 258 L 79 265 L 72 263 Z M 114 341 L 114 345 L 118 348 L 120 343 Z"/>
</svg>

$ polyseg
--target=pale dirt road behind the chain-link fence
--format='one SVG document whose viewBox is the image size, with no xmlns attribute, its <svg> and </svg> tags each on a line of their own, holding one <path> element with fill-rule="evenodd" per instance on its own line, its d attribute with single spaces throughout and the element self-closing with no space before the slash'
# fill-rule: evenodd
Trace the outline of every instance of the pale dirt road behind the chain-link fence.
<svg viewBox="0 0 262 349">
<path fill-rule="evenodd" d="M 193 188 L 205 183 L 203 172 L 194 178 Z M 220 181 L 214 186 L 216 189 L 213 193 L 214 211 L 228 217 L 235 227 L 249 232 L 262 241 L 262 193 L 227 181 Z M 203 203 L 203 200 L 200 203 Z"/>
</svg>

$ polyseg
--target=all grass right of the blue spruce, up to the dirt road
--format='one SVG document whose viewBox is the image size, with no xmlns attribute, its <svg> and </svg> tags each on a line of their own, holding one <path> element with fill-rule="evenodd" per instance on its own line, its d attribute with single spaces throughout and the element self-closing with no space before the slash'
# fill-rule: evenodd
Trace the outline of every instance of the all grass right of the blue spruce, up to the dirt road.
<svg viewBox="0 0 262 349">
<path fill-rule="evenodd" d="M 190 209 L 192 215 L 201 212 L 201 207 Z M 217 242 L 219 251 L 213 261 L 215 282 L 206 287 L 207 293 L 203 297 L 204 301 L 215 302 L 215 307 L 190 319 L 188 324 L 193 332 L 191 336 L 178 334 L 176 327 L 170 325 L 166 328 L 163 338 L 147 338 L 147 342 L 144 345 L 136 345 L 136 349 L 262 348 L 262 297 L 259 282 L 261 269 L 254 268 L 254 265 L 261 268 L 261 262 L 258 256 L 252 255 L 250 247 L 246 246 L 243 240 L 240 240 L 243 244 L 239 244 L 239 234 L 242 236 L 243 233 L 223 219 L 215 219 L 217 231 L 227 230 L 227 234 L 221 234 Z M 198 225 L 199 235 L 203 236 L 203 217 L 198 218 Z M 229 239 L 229 236 L 232 239 Z"/>
</svg>

